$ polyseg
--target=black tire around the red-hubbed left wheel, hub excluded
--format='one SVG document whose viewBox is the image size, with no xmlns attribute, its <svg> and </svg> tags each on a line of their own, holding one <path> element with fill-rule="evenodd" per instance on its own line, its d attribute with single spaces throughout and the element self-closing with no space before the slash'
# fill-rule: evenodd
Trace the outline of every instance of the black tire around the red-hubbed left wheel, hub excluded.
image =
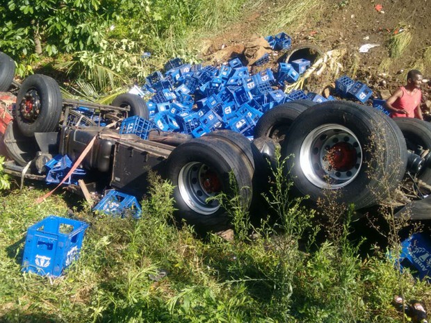
<svg viewBox="0 0 431 323">
<path fill-rule="evenodd" d="M 40 96 L 40 113 L 33 122 L 27 122 L 22 115 L 19 104 L 25 100 L 26 93 L 35 89 Z M 63 110 L 58 83 L 46 75 L 34 74 L 27 77 L 19 88 L 17 104 L 15 106 L 15 119 L 22 134 L 33 137 L 35 133 L 51 132 L 56 130 Z"/>
</svg>

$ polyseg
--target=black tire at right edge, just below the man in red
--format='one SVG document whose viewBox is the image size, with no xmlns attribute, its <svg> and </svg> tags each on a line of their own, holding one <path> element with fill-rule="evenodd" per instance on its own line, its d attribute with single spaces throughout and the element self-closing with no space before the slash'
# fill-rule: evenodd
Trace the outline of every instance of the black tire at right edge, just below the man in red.
<svg viewBox="0 0 431 323">
<path fill-rule="evenodd" d="M 393 121 L 400 127 L 407 142 L 407 149 L 415 151 L 416 146 L 420 145 L 424 150 L 430 149 L 431 151 L 431 124 L 429 122 L 407 117 L 393 118 Z M 416 177 L 431 185 L 431 165 L 425 165 L 416 174 Z"/>
</svg>

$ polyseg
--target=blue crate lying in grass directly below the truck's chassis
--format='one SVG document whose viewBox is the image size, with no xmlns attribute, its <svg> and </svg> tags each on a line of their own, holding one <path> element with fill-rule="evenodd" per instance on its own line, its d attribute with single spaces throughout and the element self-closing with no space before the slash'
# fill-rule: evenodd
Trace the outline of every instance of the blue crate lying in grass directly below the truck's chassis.
<svg viewBox="0 0 431 323">
<path fill-rule="evenodd" d="M 133 216 L 136 219 L 142 213 L 136 197 L 117 190 L 109 190 L 92 210 L 112 216 Z"/>
</svg>

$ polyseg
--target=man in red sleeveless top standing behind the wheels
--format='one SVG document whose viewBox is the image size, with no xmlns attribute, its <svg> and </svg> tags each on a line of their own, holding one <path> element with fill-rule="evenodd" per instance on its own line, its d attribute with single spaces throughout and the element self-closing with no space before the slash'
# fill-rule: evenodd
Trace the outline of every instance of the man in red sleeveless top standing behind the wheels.
<svg viewBox="0 0 431 323">
<path fill-rule="evenodd" d="M 421 111 L 421 83 L 422 74 L 412 69 L 407 74 L 407 85 L 396 90 L 384 103 L 389 110 L 390 117 L 410 117 L 423 120 Z"/>
</svg>

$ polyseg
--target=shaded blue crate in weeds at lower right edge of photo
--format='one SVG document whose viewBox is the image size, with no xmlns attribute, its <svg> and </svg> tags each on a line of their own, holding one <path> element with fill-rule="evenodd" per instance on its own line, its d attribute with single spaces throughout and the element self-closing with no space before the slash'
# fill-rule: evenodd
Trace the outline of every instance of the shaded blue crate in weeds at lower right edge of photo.
<svg viewBox="0 0 431 323">
<path fill-rule="evenodd" d="M 420 279 L 431 277 L 431 241 L 421 233 L 414 233 L 401 242 L 400 263 L 402 267 L 413 266 Z"/>
</svg>

